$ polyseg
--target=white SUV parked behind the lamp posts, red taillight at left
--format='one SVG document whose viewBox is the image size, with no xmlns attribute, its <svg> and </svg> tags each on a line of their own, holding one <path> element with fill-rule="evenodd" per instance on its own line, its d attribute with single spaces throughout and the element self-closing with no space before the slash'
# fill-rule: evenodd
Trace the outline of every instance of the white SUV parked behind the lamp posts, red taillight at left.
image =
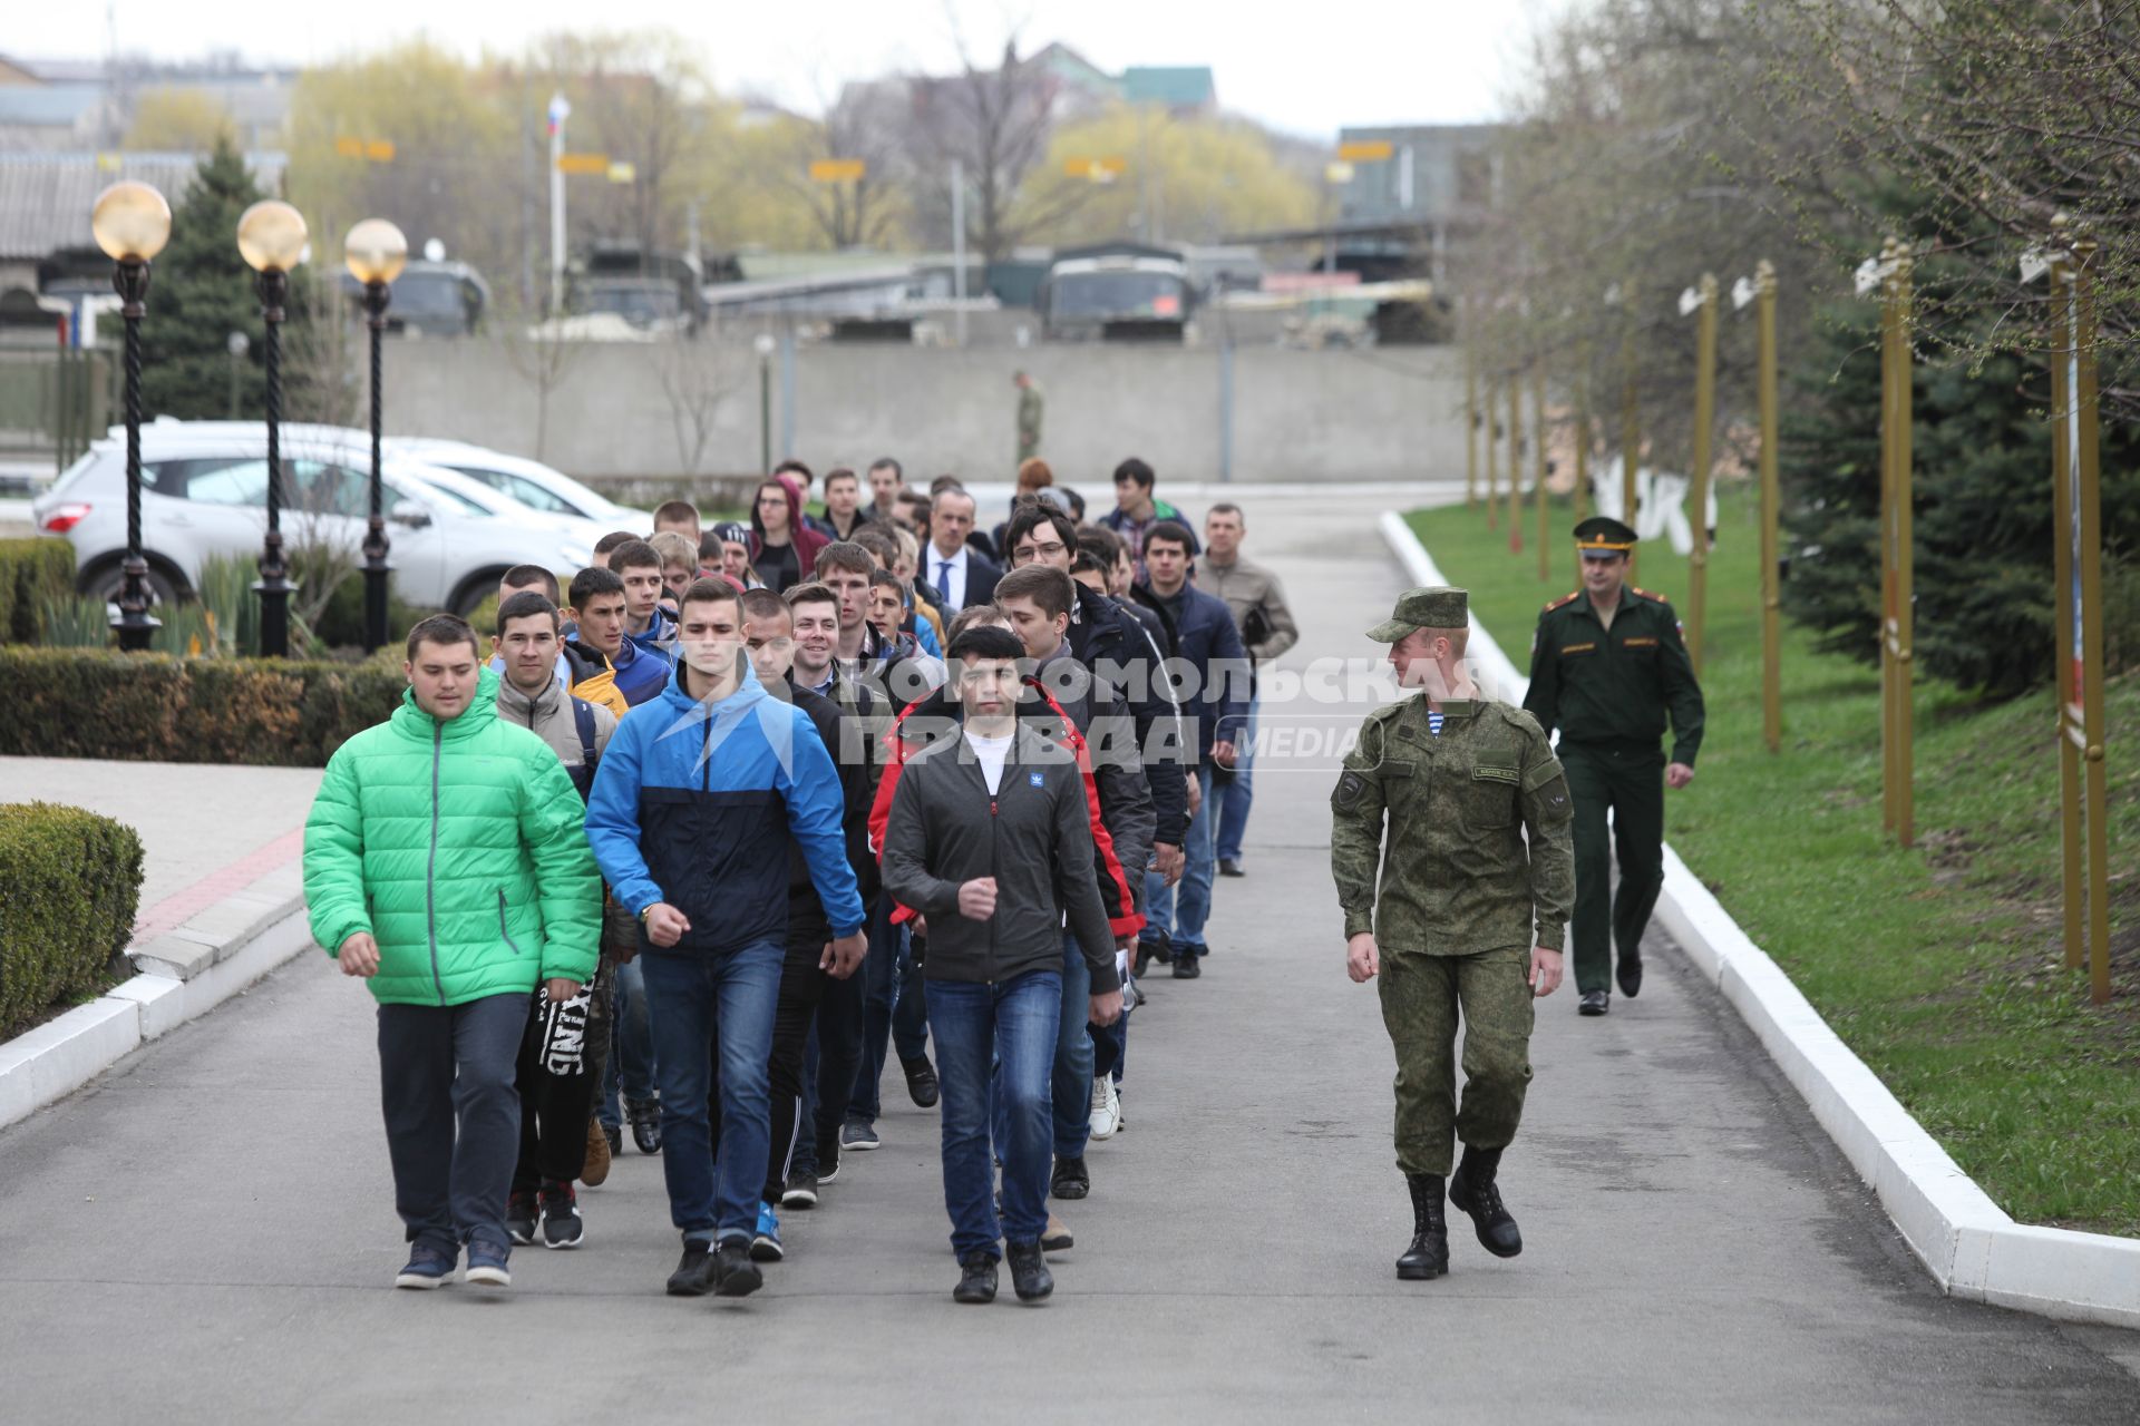
<svg viewBox="0 0 2140 1426">
<path fill-rule="evenodd" d="M 362 560 L 370 511 L 370 436 L 336 425 L 282 428 L 285 547 L 332 545 Z M 529 511 L 494 490 L 404 455 L 381 462 L 394 588 L 467 614 L 514 564 L 578 571 L 606 526 Z M 36 524 L 75 545 L 77 586 L 118 599 L 126 558 L 126 436 L 113 430 L 36 498 Z M 141 428 L 141 554 L 152 596 L 190 594 L 201 562 L 259 554 L 268 532 L 268 432 L 248 421 Z"/>
</svg>

